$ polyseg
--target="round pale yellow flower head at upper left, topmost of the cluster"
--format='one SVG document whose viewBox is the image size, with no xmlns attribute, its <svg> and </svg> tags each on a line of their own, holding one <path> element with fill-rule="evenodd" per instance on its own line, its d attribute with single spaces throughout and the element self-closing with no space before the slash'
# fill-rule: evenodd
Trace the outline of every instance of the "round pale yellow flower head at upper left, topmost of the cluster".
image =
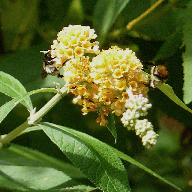
<svg viewBox="0 0 193 192">
<path fill-rule="evenodd" d="M 54 66 L 60 69 L 64 63 L 72 58 L 82 57 L 87 53 L 99 52 L 97 35 L 88 26 L 69 25 L 57 35 L 51 46 L 51 57 Z"/>
</svg>

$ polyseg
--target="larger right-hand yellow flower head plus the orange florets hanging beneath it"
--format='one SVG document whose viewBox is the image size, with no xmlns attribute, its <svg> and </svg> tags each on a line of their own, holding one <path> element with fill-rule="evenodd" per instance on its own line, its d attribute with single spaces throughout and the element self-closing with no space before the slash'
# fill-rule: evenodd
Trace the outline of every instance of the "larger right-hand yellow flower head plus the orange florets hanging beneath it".
<svg viewBox="0 0 193 192">
<path fill-rule="evenodd" d="M 130 49 L 111 47 L 101 51 L 90 64 L 90 76 L 98 85 L 98 100 L 109 111 L 120 116 L 128 98 L 126 89 L 132 87 L 136 94 L 147 94 L 147 75 L 142 64 Z"/>
</svg>

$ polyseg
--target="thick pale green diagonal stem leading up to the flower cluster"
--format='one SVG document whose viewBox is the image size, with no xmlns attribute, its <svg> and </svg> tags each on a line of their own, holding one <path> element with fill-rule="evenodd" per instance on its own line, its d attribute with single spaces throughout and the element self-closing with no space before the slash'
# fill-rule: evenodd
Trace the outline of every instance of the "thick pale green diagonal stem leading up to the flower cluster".
<svg viewBox="0 0 193 192">
<path fill-rule="evenodd" d="M 8 144 L 16 137 L 18 137 L 26 128 L 40 121 L 41 118 L 45 116 L 62 99 L 64 93 L 66 93 L 65 89 L 60 89 L 60 91 L 54 97 L 52 97 L 52 99 L 50 99 L 39 111 L 34 114 L 30 114 L 30 117 L 27 121 L 9 132 L 7 135 L 1 136 L 0 144 Z"/>
</svg>

